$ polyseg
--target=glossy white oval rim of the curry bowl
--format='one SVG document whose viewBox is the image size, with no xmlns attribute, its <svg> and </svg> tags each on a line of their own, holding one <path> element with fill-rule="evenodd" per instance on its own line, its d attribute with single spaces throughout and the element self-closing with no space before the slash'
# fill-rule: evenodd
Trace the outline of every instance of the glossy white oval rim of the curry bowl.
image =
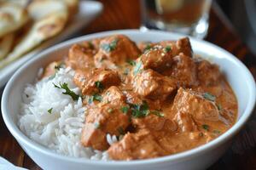
<svg viewBox="0 0 256 170">
<path fill-rule="evenodd" d="M 185 37 L 184 35 L 167 32 L 167 31 L 145 31 L 146 34 L 152 33 L 152 34 L 166 34 L 166 36 L 170 37 Z M 18 71 L 15 71 L 15 74 L 10 78 L 9 82 L 7 83 L 6 87 L 3 90 L 3 97 L 2 97 L 2 116 L 3 121 L 5 122 L 6 126 L 8 127 L 10 133 L 15 137 L 15 139 L 22 144 L 26 144 L 33 150 L 37 150 L 38 152 L 43 153 L 44 155 L 55 157 L 56 159 L 60 159 L 61 161 L 72 161 L 75 163 L 82 163 L 82 164 L 90 164 L 90 165 L 97 165 L 97 166 L 108 166 L 108 167 L 115 167 L 115 166 L 139 166 L 144 164 L 154 164 L 154 163 L 162 163 L 166 161 L 184 161 L 189 159 L 189 156 L 200 156 L 203 154 L 203 152 L 206 152 L 207 150 L 213 150 L 214 148 L 217 148 L 220 144 L 224 144 L 227 140 L 231 139 L 236 133 L 239 132 L 241 127 L 247 122 L 248 118 L 252 115 L 253 107 L 256 100 L 256 88 L 255 88 L 255 82 L 253 79 L 253 76 L 250 71 L 248 71 L 247 67 L 239 60 L 237 59 L 233 54 L 230 54 L 223 48 L 219 48 L 218 46 L 212 44 L 211 42 L 206 42 L 203 40 L 197 40 L 193 37 L 189 37 L 193 42 L 198 42 L 201 44 L 205 44 L 208 47 L 212 46 L 212 48 L 216 48 L 216 50 L 220 51 L 222 54 L 225 54 L 232 60 L 232 62 L 236 65 L 239 65 L 241 71 L 245 73 L 245 77 L 247 78 L 247 86 L 249 91 L 252 93 L 248 96 L 248 103 L 247 107 L 245 108 L 245 111 L 243 112 L 240 119 L 235 123 L 233 127 L 230 127 L 230 129 L 219 136 L 217 139 L 212 140 L 211 142 L 207 144 L 203 144 L 199 147 L 196 147 L 191 150 L 186 150 L 174 155 L 170 156 L 162 156 L 158 158 L 153 159 L 146 159 L 146 160 L 135 160 L 135 161 L 96 161 L 96 160 L 90 160 L 90 159 L 84 159 L 84 158 L 75 158 L 71 156 L 63 156 L 61 154 L 55 153 L 52 150 L 49 150 L 48 148 L 44 147 L 41 144 L 38 144 L 37 142 L 33 141 L 32 139 L 29 139 L 24 133 L 20 131 L 20 128 L 16 125 L 16 123 L 11 119 L 9 116 L 8 111 L 8 101 L 9 101 L 9 94 L 12 91 L 13 84 L 15 80 L 19 77 L 20 73 L 22 71 L 26 70 L 26 67 L 29 65 L 32 65 L 34 62 L 37 62 L 38 59 L 44 57 L 46 54 L 50 54 L 55 51 L 57 48 L 61 48 L 64 46 L 67 46 L 68 44 L 73 44 L 74 42 L 81 42 L 85 39 L 91 39 L 95 37 L 104 37 L 112 34 L 137 34 L 137 33 L 144 33 L 143 31 L 139 31 L 137 29 L 129 29 L 129 30 L 115 30 L 115 31 L 102 31 L 97 32 L 93 34 L 84 35 L 82 37 L 76 37 L 70 40 L 67 40 L 65 42 L 61 42 L 59 44 L 56 44 L 50 48 L 44 49 L 44 51 L 40 52 L 39 54 L 36 54 L 37 57 L 34 57 L 33 59 L 30 59 L 28 62 L 26 62 L 25 65 L 22 65 Z M 188 36 L 186 36 L 188 37 Z"/>
</svg>

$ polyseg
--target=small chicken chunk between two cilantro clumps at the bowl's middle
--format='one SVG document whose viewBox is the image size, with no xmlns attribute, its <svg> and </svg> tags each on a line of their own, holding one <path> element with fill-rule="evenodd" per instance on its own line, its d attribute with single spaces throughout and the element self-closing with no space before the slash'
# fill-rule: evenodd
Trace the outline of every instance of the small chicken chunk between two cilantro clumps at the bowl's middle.
<svg viewBox="0 0 256 170">
<path fill-rule="evenodd" d="M 111 103 L 111 105 L 125 105 L 125 95 L 119 88 L 112 86 L 102 95 L 103 103 Z"/>
</svg>

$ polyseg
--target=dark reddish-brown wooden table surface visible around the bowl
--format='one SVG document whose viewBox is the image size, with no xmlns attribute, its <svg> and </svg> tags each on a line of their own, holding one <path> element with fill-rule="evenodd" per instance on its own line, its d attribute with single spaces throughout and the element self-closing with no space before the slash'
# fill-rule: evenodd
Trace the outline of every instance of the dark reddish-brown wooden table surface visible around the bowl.
<svg viewBox="0 0 256 170">
<path fill-rule="evenodd" d="M 137 0 L 102 0 L 104 11 L 90 26 L 80 32 L 81 35 L 108 30 L 136 29 L 140 26 L 140 6 Z M 210 12 L 210 26 L 206 37 L 208 42 L 217 44 L 247 65 L 256 78 L 256 58 L 247 46 L 236 36 L 235 31 L 224 19 L 221 11 L 213 5 Z M 1 93 L 0 93 L 1 94 Z M 209 170 L 215 169 L 256 169 L 256 111 L 247 126 L 241 130 L 227 150 Z M 9 133 L 0 115 L 0 156 L 8 159 L 16 166 L 29 169 L 41 169 L 20 148 Z"/>
</svg>

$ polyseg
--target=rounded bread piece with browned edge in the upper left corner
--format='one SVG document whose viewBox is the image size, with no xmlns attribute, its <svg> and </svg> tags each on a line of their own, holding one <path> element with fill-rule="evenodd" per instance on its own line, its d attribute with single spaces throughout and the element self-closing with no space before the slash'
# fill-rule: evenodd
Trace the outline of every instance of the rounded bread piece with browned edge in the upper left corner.
<svg viewBox="0 0 256 170">
<path fill-rule="evenodd" d="M 26 9 L 17 3 L 1 3 L 0 5 L 0 37 L 18 30 L 26 24 L 29 16 Z"/>
</svg>

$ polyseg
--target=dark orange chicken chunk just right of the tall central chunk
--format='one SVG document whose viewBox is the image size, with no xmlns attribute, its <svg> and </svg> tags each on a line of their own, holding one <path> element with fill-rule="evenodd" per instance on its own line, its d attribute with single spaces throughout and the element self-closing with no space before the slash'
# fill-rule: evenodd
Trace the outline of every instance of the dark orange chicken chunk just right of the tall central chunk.
<svg viewBox="0 0 256 170">
<path fill-rule="evenodd" d="M 178 87 L 191 87 L 198 84 L 195 62 L 184 54 L 174 57 L 172 59 L 172 69 L 163 72 L 163 75 L 177 79 Z"/>
</svg>

